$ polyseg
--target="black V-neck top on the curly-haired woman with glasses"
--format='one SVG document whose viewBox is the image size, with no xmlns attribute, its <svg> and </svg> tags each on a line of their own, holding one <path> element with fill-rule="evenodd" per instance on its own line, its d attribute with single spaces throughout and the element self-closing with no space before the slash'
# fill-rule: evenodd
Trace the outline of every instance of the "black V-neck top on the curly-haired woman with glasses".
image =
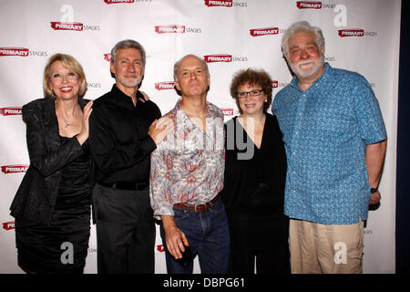
<svg viewBox="0 0 410 292">
<path fill-rule="evenodd" d="M 258 149 L 237 118 L 226 124 L 225 186 L 221 192 L 228 215 L 232 249 L 287 250 L 289 218 L 283 214 L 286 154 L 278 121 L 266 114 Z M 241 142 L 243 141 L 243 142 Z M 238 154 L 249 152 L 249 159 Z"/>
</svg>

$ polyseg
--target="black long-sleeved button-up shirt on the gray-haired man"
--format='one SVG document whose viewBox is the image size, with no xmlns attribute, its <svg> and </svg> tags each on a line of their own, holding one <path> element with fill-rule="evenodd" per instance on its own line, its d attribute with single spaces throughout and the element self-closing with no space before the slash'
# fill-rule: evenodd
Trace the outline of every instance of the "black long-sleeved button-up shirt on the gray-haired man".
<svg viewBox="0 0 410 292">
<path fill-rule="evenodd" d="M 137 100 L 143 98 L 138 91 Z M 149 183 L 149 154 L 156 149 L 148 131 L 161 117 L 152 101 L 132 99 L 114 84 L 96 99 L 89 120 L 89 145 L 97 183 Z"/>
</svg>

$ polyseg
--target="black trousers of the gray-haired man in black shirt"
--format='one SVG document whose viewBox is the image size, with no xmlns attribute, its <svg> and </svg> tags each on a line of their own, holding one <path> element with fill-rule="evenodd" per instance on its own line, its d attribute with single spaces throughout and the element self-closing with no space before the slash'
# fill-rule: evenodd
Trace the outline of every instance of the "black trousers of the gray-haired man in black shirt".
<svg viewBox="0 0 410 292">
<path fill-rule="evenodd" d="M 97 272 L 153 274 L 155 224 L 149 188 L 112 189 L 96 184 Z"/>
</svg>

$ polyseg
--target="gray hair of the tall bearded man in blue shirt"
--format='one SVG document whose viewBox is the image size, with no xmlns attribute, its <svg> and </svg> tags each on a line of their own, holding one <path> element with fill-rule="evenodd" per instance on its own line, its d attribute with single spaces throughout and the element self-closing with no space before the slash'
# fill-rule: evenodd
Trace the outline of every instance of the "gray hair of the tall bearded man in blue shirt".
<svg viewBox="0 0 410 292">
<path fill-rule="evenodd" d="M 311 26 L 307 21 L 299 21 L 289 26 L 282 36 L 282 52 L 285 56 L 289 55 L 289 40 L 292 36 L 299 32 L 306 32 L 314 36 L 316 46 L 320 49 L 324 48 L 324 37 L 322 29 L 316 26 Z"/>
</svg>

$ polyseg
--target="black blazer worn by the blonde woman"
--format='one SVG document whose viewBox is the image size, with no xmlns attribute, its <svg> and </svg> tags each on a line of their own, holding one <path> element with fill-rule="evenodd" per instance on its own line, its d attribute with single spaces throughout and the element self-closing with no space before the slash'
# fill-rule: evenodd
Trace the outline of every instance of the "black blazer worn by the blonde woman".
<svg viewBox="0 0 410 292">
<path fill-rule="evenodd" d="M 78 99 L 81 109 L 87 102 Z M 15 217 L 16 227 L 49 225 L 61 180 L 60 170 L 84 150 L 76 137 L 60 145 L 54 98 L 33 100 L 23 106 L 22 114 L 30 166 L 10 206 L 11 215 Z"/>
</svg>

